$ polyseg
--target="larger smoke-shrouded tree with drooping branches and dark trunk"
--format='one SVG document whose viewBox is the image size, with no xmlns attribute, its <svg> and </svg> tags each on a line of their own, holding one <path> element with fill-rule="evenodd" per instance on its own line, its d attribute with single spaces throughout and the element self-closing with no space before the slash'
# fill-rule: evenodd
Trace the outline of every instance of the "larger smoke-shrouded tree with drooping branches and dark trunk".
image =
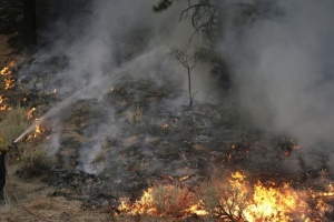
<svg viewBox="0 0 334 222">
<path fill-rule="evenodd" d="M 155 12 L 166 11 L 178 0 L 160 0 L 153 7 Z M 229 90 L 230 73 L 224 56 L 217 51 L 217 41 L 224 34 L 225 27 L 230 27 L 238 34 L 243 34 L 244 27 L 252 26 L 258 19 L 272 19 L 279 17 L 283 12 L 275 4 L 276 0 L 253 0 L 248 2 L 232 1 L 226 3 L 222 0 L 188 0 L 179 16 L 179 21 L 189 20 L 195 34 L 202 36 L 202 44 L 196 58 L 212 65 L 210 74 L 217 78 L 217 82 L 225 90 Z M 228 23 L 229 22 L 229 23 Z"/>
</svg>

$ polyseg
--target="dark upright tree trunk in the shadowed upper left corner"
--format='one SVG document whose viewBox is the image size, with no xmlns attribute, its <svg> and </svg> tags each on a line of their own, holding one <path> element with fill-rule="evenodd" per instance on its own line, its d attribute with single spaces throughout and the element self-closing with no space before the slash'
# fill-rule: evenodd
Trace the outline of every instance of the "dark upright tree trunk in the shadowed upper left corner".
<svg viewBox="0 0 334 222">
<path fill-rule="evenodd" d="M 23 47 L 31 50 L 37 44 L 36 0 L 23 0 Z"/>
</svg>

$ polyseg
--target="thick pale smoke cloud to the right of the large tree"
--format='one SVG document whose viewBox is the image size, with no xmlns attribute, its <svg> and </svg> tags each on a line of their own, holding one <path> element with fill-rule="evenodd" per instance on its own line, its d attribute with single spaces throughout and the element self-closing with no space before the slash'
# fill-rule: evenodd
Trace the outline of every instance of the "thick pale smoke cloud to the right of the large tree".
<svg viewBox="0 0 334 222">
<path fill-rule="evenodd" d="M 334 142 L 334 2 L 277 3 L 283 17 L 257 20 L 242 37 L 230 31 L 220 41 L 233 63 L 242 110 L 255 124 L 303 144 Z"/>
</svg>

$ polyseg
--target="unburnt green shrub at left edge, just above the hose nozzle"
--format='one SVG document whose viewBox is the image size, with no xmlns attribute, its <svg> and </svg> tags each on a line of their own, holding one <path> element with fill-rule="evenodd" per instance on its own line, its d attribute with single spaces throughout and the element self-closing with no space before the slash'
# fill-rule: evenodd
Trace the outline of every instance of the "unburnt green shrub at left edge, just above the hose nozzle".
<svg viewBox="0 0 334 222">
<path fill-rule="evenodd" d="M 27 119 L 26 110 L 21 107 L 12 108 L 0 122 L 0 137 L 7 143 L 13 142 L 32 122 Z"/>
</svg>

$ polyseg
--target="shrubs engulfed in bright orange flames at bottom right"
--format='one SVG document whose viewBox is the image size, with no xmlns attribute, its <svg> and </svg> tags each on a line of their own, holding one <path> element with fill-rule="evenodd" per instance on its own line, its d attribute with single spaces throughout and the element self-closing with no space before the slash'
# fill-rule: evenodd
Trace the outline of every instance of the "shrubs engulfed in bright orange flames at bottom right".
<svg viewBox="0 0 334 222">
<path fill-rule="evenodd" d="M 252 185 L 244 174 L 236 172 L 228 181 L 204 183 L 197 205 L 207 211 L 202 214 L 223 221 L 323 221 L 331 210 L 328 204 L 321 199 L 311 201 L 310 196 L 325 194 L 293 189 L 288 183 L 258 181 Z"/>
</svg>

